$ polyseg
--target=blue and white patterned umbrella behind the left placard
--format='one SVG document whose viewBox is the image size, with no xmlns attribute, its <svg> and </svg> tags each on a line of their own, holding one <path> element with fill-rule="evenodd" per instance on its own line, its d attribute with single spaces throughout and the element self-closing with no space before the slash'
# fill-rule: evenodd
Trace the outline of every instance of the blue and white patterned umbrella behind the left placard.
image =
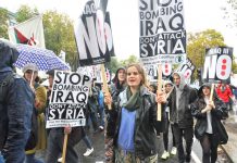
<svg viewBox="0 0 237 163">
<path fill-rule="evenodd" d="M 16 49 L 20 55 L 14 65 L 18 68 L 24 67 L 27 63 L 35 63 L 40 71 L 70 70 L 70 66 L 51 50 L 27 45 L 16 45 Z"/>
</svg>

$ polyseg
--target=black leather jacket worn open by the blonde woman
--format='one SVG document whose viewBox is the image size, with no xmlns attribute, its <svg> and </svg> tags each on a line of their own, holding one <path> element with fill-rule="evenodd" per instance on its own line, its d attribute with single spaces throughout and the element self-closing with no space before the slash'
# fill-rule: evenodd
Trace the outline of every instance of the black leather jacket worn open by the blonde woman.
<svg viewBox="0 0 237 163">
<path fill-rule="evenodd" d="M 157 123 L 157 102 L 155 102 L 155 95 L 148 91 L 147 88 L 142 88 L 141 90 L 142 101 L 140 108 L 136 110 L 136 120 L 135 120 L 135 136 L 134 136 L 134 147 L 135 147 L 135 154 L 140 159 L 145 159 L 157 154 L 158 151 L 158 142 L 157 142 L 157 135 L 155 129 L 159 128 Z M 116 112 L 117 121 L 115 128 L 115 137 L 114 137 L 114 146 L 116 146 L 118 130 L 120 130 L 120 123 L 121 123 L 121 110 L 122 110 L 122 98 L 126 97 L 126 89 L 121 92 L 118 97 L 118 103 L 116 105 L 117 109 L 112 109 L 110 113 Z M 115 105 L 113 105 L 115 106 Z"/>
</svg>

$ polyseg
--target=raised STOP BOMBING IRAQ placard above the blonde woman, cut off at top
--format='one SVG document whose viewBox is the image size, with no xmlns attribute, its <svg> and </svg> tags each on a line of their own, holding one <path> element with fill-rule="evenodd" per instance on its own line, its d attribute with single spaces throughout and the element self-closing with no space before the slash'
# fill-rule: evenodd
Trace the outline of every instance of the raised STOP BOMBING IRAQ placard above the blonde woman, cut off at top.
<svg viewBox="0 0 237 163">
<path fill-rule="evenodd" d="M 184 3 L 139 0 L 140 59 L 145 65 L 186 61 Z"/>
</svg>

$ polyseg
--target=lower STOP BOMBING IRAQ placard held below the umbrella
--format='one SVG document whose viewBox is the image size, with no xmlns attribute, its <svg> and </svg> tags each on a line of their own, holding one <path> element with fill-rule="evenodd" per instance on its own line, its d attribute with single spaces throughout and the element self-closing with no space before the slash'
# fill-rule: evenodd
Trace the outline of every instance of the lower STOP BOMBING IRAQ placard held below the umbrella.
<svg viewBox="0 0 237 163">
<path fill-rule="evenodd" d="M 55 71 L 46 127 L 85 126 L 90 86 L 87 75 Z"/>
</svg>

